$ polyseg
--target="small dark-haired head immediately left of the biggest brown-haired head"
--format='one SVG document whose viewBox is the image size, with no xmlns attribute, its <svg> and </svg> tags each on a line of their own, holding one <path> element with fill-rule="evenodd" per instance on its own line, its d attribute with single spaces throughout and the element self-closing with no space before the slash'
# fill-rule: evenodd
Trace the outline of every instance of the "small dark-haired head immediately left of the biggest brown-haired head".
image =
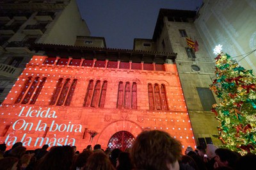
<svg viewBox="0 0 256 170">
<path fill-rule="evenodd" d="M 119 156 L 116 160 L 116 170 L 131 170 L 133 165 L 131 162 L 130 154 L 127 152 L 119 153 Z"/>
</svg>

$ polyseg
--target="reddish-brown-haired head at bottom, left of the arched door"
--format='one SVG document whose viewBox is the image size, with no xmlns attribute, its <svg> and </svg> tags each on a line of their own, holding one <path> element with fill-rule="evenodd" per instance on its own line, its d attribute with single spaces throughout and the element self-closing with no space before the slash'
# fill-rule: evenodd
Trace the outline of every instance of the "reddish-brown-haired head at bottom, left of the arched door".
<svg viewBox="0 0 256 170">
<path fill-rule="evenodd" d="M 108 156 L 102 151 L 95 151 L 88 157 L 86 165 L 83 169 L 86 170 L 115 170 Z"/>
</svg>

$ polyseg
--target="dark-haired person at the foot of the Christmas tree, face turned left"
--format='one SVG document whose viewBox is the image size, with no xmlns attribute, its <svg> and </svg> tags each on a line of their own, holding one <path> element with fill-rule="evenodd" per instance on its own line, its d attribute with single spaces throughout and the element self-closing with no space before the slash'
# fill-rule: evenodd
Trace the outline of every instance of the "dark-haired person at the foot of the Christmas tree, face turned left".
<svg viewBox="0 0 256 170">
<path fill-rule="evenodd" d="M 218 148 L 215 150 L 216 157 L 215 157 L 215 164 L 214 168 L 218 167 L 231 167 L 232 169 L 235 166 L 236 160 L 239 158 L 237 153 L 234 153 L 231 150 L 225 148 Z"/>
</svg>

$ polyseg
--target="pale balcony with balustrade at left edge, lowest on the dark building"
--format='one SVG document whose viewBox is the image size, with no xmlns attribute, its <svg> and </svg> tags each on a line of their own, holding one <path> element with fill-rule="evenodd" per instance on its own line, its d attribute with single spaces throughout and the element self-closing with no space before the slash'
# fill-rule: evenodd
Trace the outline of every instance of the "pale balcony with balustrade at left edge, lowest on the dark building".
<svg viewBox="0 0 256 170">
<path fill-rule="evenodd" d="M 10 65 L 4 65 L 0 63 L 0 75 L 5 77 L 18 77 L 22 72 L 22 68 L 16 68 Z"/>
</svg>

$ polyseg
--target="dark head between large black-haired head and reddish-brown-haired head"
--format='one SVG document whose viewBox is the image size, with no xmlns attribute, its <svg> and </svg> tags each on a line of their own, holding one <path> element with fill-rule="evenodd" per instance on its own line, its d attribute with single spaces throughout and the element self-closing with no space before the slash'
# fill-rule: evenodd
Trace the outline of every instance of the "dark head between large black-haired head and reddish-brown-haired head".
<svg viewBox="0 0 256 170">
<path fill-rule="evenodd" d="M 81 169 L 87 162 L 88 157 L 92 155 L 92 150 L 84 150 L 82 153 L 77 155 L 76 160 L 72 166 L 73 170 Z"/>
</svg>

